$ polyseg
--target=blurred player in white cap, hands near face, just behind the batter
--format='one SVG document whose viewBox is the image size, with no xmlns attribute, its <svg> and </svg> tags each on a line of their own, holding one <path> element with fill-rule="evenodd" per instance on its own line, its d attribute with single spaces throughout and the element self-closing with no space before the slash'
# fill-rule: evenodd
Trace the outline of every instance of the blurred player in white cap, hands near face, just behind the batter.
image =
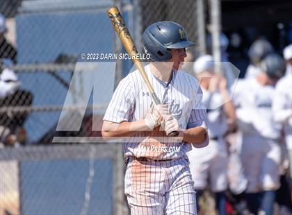
<svg viewBox="0 0 292 215">
<path fill-rule="evenodd" d="M 195 189 L 199 194 L 198 199 L 206 189 L 210 176 L 211 191 L 216 197 L 216 209 L 219 214 L 226 214 L 228 153 L 224 135 L 229 126 L 234 126 L 236 116 L 229 98 L 227 80 L 220 74 L 215 74 L 213 69 L 211 55 L 202 55 L 194 63 L 194 71 L 202 87 L 202 102 L 207 108 L 206 125 L 210 143 L 204 148 L 190 150 L 188 158 Z"/>
</svg>

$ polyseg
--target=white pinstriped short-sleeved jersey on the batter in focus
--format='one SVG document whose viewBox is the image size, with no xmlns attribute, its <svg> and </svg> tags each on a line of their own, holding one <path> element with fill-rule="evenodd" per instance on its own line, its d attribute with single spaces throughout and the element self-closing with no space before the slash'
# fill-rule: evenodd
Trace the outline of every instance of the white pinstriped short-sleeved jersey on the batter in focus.
<svg viewBox="0 0 292 215">
<path fill-rule="evenodd" d="M 201 102 L 202 89 L 193 76 L 184 71 L 172 71 L 170 82 L 163 83 L 152 74 L 149 65 L 145 67 L 145 71 L 154 92 L 161 103 L 168 105 L 170 114 L 177 119 L 181 130 L 202 125 L 206 117 L 206 109 Z M 145 81 L 139 71 L 135 70 L 122 79 L 115 89 L 104 120 L 115 123 L 138 121 L 144 119 L 147 112 L 151 112 L 152 105 L 152 97 Z M 167 142 L 163 137 L 161 139 L 161 144 L 157 145 L 157 141 L 145 137 L 143 132 L 136 133 L 123 144 L 124 155 L 163 160 L 183 157 L 188 150 L 191 150 L 191 145 L 188 143 Z"/>
</svg>

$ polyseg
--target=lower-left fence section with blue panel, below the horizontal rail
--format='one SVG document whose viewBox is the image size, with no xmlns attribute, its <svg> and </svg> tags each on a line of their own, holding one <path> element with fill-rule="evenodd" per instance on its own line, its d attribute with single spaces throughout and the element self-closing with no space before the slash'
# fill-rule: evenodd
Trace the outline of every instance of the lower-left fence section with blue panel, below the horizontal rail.
<svg viewBox="0 0 292 215">
<path fill-rule="evenodd" d="M 122 165 L 119 144 L 0 150 L 0 214 L 121 214 Z"/>
</svg>

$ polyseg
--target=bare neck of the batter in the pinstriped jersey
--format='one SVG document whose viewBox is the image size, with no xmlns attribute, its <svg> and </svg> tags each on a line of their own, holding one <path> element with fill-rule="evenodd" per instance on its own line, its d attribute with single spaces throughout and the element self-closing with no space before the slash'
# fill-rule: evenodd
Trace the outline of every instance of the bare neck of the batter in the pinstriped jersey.
<svg viewBox="0 0 292 215">
<path fill-rule="evenodd" d="M 150 71 L 156 78 L 168 83 L 172 72 L 172 62 L 152 62 Z"/>
</svg>

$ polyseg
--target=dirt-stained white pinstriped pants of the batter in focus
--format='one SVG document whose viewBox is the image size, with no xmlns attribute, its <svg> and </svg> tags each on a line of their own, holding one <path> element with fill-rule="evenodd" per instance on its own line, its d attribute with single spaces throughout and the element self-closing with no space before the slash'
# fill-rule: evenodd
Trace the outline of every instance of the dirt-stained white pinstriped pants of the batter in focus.
<svg viewBox="0 0 292 215">
<path fill-rule="evenodd" d="M 165 162 L 130 158 L 124 180 L 131 214 L 197 214 L 188 158 Z"/>
</svg>

